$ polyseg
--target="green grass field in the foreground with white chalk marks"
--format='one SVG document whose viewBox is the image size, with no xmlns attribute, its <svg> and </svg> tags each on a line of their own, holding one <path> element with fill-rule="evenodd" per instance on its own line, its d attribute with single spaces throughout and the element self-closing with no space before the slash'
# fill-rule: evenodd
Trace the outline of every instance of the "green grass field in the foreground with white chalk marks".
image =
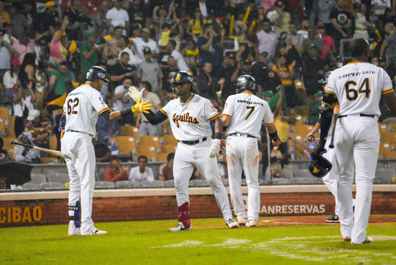
<svg viewBox="0 0 396 265">
<path fill-rule="evenodd" d="M 176 223 L 97 223 L 107 235 L 70 237 L 66 225 L 2 228 L 0 264 L 396 264 L 395 223 L 370 223 L 374 243 L 364 245 L 342 241 L 338 224 L 228 229 L 209 218 L 193 219 L 191 231 L 168 232 Z"/>
</svg>

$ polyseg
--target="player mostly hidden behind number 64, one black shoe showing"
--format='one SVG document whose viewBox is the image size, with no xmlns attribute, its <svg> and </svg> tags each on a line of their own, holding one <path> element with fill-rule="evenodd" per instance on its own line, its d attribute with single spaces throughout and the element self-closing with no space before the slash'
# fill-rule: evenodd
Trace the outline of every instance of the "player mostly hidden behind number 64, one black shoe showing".
<svg viewBox="0 0 396 265">
<path fill-rule="evenodd" d="M 324 78 L 320 79 L 318 82 L 326 84 L 330 73 L 331 72 L 326 72 Z M 339 111 L 340 111 L 340 105 L 337 103 L 334 106 L 334 113 L 339 114 Z M 334 124 L 334 117 L 331 121 L 331 124 Z M 311 143 L 315 142 L 315 133 L 319 130 L 319 128 L 320 128 L 320 117 L 316 125 L 312 128 L 311 132 L 307 134 L 306 136 L 307 141 Z M 329 218 L 326 218 L 326 222 L 338 223 L 340 222 L 340 218 L 338 217 L 340 214 L 340 207 L 339 207 L 340 205 L 337 203 L 338 171 L 337 171 L 336 157 L 334 156 L 334 149 L 328 148 L 331 142 L 331 135 L 332 135 L 332 130 L 329 130 L 326 140 L 327 152 L 323 154 L 323 157 L 325 159 L 328 159 L 333 164 L 333 167 L 331 168 L 330 172 L 323 177 L 323 182 L 325 183 L 326 187 L 330 190 L 330 192 L 334 195 L 334 198 L 336 199 L 336 208 L 334 214 Z M 309 136 L 311 136 L 312 138 L 310 138 Z M 355 199 L 352 199 L 352 206 L 355 207 Z"/>
</svg>

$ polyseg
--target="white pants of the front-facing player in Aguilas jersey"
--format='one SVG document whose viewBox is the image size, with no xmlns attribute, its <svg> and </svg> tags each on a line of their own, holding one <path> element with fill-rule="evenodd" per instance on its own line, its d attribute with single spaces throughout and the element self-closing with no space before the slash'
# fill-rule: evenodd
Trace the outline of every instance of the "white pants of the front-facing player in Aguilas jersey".
<svg viewBox="0 0 396 265">
<path fill-rule="evenodd" d="M 176 148 L 173 162 L 173 176 L 176 188 L 177 206 L 189 203 L 189 180 L 194 166 L 205 177 L 216 198 L 217 205 L 223 213 L 224 220 L 232 218 L 228 195 L 217 166 L 217 159 L 209 158 L 209 148 L 212 140 L 209 138 L 196 145 L 179 143 Z"/>
</svg>

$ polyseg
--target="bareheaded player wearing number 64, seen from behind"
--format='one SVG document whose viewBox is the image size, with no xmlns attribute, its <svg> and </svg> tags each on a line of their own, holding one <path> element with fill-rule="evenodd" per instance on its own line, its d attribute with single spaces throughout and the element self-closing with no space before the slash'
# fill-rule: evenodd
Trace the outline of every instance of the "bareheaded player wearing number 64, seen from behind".
<svg viewBox="0 0 396 265">
<path fill-rule="evenodd" d="M 350 42 L 352 62 L 334 70 L 328 79 L 320 110 L 320 141 L 312 158 L 325 152 L 335 103 L 340 104 L 334 138 L 338 167 L 338 203 L 341 235 L 352 244 L 370 243 L 366 228 L 380 145 L 378 117 L 381 96 L 396 113 L 396 95 L 384 69 L 369 63 L 370 44 L 363 38 Z M 356 172 L 356 203 L 352 210 L 353 162 Z M 353 218 L 354 217 L 354 218 Z"/>
</svg>

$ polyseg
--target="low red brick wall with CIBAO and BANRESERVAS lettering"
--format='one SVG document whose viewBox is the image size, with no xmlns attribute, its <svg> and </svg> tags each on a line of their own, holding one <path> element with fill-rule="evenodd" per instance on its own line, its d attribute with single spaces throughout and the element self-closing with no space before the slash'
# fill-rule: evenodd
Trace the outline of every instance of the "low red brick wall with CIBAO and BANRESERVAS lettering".
<svg viewBox="0 0 396 265">
<path fill-rule="evenodd" d="M 192 195 L 190 201 L 192 218 L 222 216 L 213 195 Z M 262 193 L 260 216 L 332 214 L 334 207 L 329 192 Z M 175 196 L 108 197 L 94 198 L 92 217 L 95 222 L 176 219 L 176 211 Z M 396 192 L 373 192 L 371 213 L 396 214 Z M 67 199 L 0 201 L 0 227 L 67 223 Z"/>
</svg>

